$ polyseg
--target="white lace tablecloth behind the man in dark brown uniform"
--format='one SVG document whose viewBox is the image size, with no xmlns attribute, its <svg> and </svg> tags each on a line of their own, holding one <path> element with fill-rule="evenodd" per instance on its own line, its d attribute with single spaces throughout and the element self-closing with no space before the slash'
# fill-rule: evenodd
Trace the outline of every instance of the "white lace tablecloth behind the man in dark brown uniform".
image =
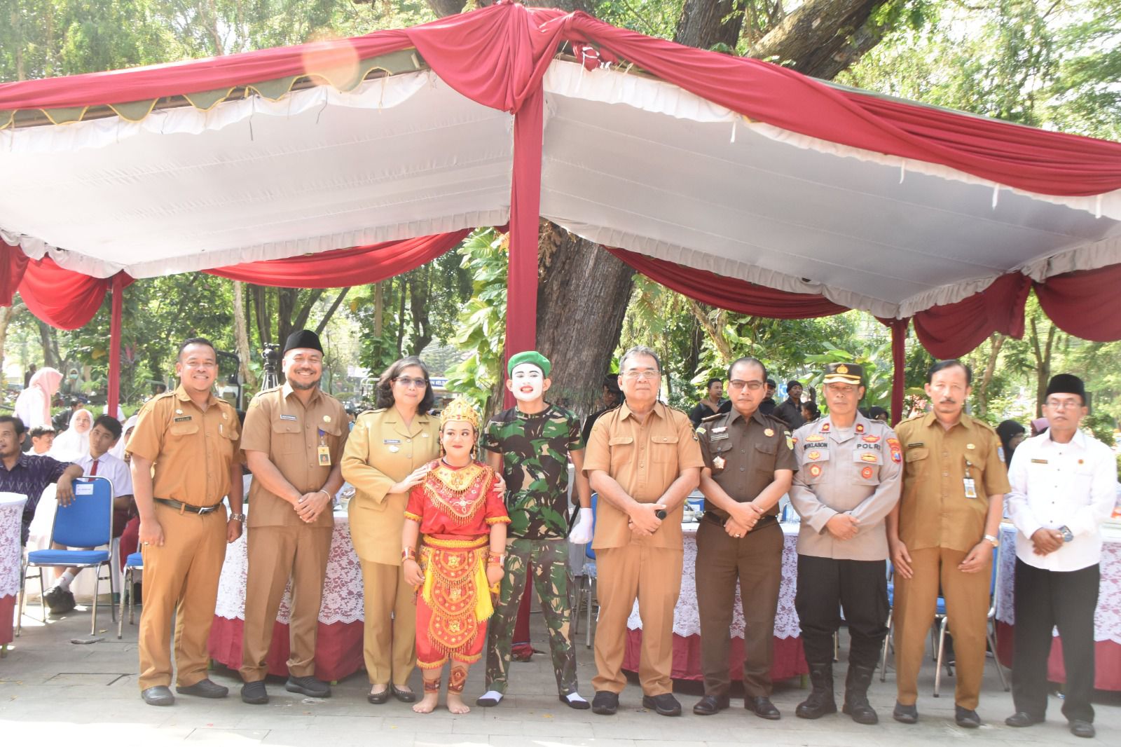
<svg viewBox="0 0 1121 747">
<path fill-rule="evenodd" d="M 786 541 L 782 544 L 782 585 L 778 592 L 778 610 L 775 614 L 775 637 L 797 638 L 799 635 L 798 614 L 794 609 L 794 592 L 798 579 L 798 525 L 782 524 Z M 686 524 L 682 527 L 685 557 L 682 568 L 682 593 L 674 608 L 674 634 L 684 637 L 701 635 L 701 614 L 697 608 L 697 585 L 694 568 L 697 562 L 697 525 Z M 638 602 L 631 610 L 627 627 L 638 630 L 642 627 L 642 618 L 638 614 Z M 743 608 L 740 601 L 740 590 L 735 590 L 735 606 L 732 611 L 732 637 L 743 637 Z"/>
</svg>

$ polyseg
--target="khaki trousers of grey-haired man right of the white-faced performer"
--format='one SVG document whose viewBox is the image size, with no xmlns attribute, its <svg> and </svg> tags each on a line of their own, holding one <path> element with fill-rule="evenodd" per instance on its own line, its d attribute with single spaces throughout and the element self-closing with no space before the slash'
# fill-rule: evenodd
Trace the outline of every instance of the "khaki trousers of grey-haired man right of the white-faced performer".
<svg viewBox="0 0 1121 747">
<path fill-rule="evenodd" d="M 646 695 L 673 692 L 674 607 L 682 590 L 679 547 L 654 547 L 647 537 L 623 547 L 595 551 L 600 621 L 595 627 L 595 668 L 592 686 L 620 693 L 627 685 L 623 653 L 627 618 L 638 599 L 642 617 L 642 648 L 638 679 Z"/>
</svg>

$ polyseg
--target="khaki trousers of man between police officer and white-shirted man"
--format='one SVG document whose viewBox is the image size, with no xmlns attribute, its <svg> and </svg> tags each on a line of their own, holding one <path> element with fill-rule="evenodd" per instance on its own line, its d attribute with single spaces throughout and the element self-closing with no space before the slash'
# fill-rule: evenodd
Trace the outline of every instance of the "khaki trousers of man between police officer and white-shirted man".
<svg viewBox="0 0 1121 747">
<path fill-rule="evenodd" d="M 914 706 L 918 699 L 918 671 L 923 666 L 941 583 L 957 660 L 954 702 L 962 708 L 976 709 L 981 680 L 984 676 L 992 555 L 989 554 L 984 568 L 976 573 L 962 573 L 957 565 L 969 553 L 947 547 L 908 552 L 914 575 L 905 579 L 896 574 L 895 611 L 891 615 L 896 628 L 896 686 L 899 702 Z"/>
</svg>

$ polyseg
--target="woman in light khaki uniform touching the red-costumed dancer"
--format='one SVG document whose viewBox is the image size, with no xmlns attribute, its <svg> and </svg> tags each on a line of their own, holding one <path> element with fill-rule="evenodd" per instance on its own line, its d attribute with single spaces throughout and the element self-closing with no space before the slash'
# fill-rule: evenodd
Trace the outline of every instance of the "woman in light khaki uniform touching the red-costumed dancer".
<svg viewBox="0 0 1121 747">
<path fill-rule="evenodd" d="M 402 358 L 378 379 L 378 409 L 359 415 L 343 452 L 343 478 L 354 486 L 350 528 L 362 564 L 364 657 L 371 703 L 392 694 L 409 703 L 416 666 L 416 605 L 401 573 L 401 527 L 408 492 L 439 457 L 439 418 L 428 370 Z"/>
</svg>

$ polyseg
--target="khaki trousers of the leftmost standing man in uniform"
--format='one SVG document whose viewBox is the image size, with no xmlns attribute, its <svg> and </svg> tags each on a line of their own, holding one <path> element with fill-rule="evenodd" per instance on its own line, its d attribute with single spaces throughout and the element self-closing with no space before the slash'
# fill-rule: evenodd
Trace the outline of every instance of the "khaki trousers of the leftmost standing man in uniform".
<svg viewBox="0 0 1121 747">
<path fill-rule="evenodd" d="M 140 690 L 172 684 L 167 643 L 175 627 L 175 683 L 206 679 L 207 640 L 225 562 L 225 507 L 200 516 L 155 505 L 164 546 L 141 546 L 143 606 L 140 611 Z M 176 611 L 178 607 L 178 611 Z"/>
</svg>

